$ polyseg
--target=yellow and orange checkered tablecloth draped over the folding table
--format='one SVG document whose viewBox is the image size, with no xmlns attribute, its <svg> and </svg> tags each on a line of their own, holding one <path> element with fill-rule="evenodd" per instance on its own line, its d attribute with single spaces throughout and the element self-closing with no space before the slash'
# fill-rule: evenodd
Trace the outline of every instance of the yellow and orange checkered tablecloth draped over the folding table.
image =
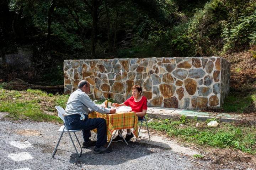
<svg viewBox="0 0 256 170">
<path fill-rule="evenodd" d="M 113 131 L 118 129 L 133 128 L 133 134 L 138 137 L 138 117 L 136 116 L 135 112 L 121 112 L 114 114 L 101 114 L 98 112 L 92 112 L 89 114 L 89 118 L 104 118 L 106 120 L 107 141 L 110 141 Z"/>
</svg>

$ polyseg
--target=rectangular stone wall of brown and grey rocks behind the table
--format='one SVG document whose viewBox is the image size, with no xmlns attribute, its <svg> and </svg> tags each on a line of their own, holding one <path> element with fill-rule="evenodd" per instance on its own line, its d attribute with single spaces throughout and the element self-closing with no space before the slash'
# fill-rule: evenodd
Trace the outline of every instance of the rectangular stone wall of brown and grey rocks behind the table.
<svg viewBox="0 0 256 170">
<path fill-rule="evenodd" d="M 65 60 L 65 94 L 80 80 L 91 84 L 91 98 L 111 95 L 121 103 L 134 84 L 150 106 L 169 108 L 218 108 L 229 91 L 230 64 L 221 57 L 134 58 Z"/>
</svg>

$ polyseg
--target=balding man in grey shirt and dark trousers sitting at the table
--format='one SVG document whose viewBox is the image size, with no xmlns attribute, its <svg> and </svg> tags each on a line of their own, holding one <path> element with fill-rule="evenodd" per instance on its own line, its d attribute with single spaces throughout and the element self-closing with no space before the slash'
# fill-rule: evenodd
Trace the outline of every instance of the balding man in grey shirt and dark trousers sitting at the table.
<svg viewBox="0 0 256 170">
<path fill-rule="evenodd" d="M 82 148 L 94 146 L 94 154 L 109 153 L 110 148 L 104 147 L 107 143 L 106 121 L 103 118 L 88 119 L 88 114 L 96 111 L 102 114 L 116 113 L 116 109 L 107 109 L 97 106 L 87 95 L 90 92 L 90 84 L 82 80 L 78 83 L 78 89 L 74 91 L 68 100 L 65 109 L 65 121 L 68 129 L 82 129 L 84 142 Z M 91 141 L 92 129 L 97 129 L 97 141 Z"/>
</svg>

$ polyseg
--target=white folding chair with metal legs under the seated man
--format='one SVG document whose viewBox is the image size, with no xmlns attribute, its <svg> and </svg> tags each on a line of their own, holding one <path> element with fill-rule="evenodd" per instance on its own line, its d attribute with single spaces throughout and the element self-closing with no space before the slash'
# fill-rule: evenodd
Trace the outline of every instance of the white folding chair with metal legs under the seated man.
<svg viewBox="0 0 256 170">
<path fill-rule="evenodd" d="M 59 146 L 59 142 L 60 142 L 60 140 L 61 140 L 62 135 L 63 135 L 64 132 L 68 132 L 69 137 L 70 137 L 70 139 L 71 139 L 71 141 L 72 141 L 72 143 L 73 143 L 73 146 L 74 146 L 74 148 L 75 148 L 75 151 L 76 151 L 76 153 L 78 154 L 78 157 L 81 157 L 81 154 L 82 154 L 82 147 L 81 147 L 80 142 L 79 142 L 79 140 L 78 140 L 78 138 L 76 137 L 76 134 L 75 134 L 75 132 L 78 132 L 78 131 L 81 131 L 81 130 L 80 130 L 80 129 L 78 129 L 78 130 L 68 130 L 68 128 L 66 127 L 66 121 L 65 121 L 65 119 L 64 119 L 64 117 L 63 117 L 63 115 L 65 114 L 65 110 L 64 110 L 62 107 L 59 107 L 59 106 L 55 106 L 55 108 L 56 108 L 57 111 L 58 111 L 58 116 L 60 117 L 60 119 L 63 120 L 64 125 L 62 125 L 62 126 L 60 127 L 60 129 L 59 129 L 59 132 L 62 132 L 62 134 L 61 134 L 60 137 L 59 137 L 59 141 L 58 141 L 58 143 L 57 143 L 57 145 L 56 145 L 56 147 L 55 147 L 55 149 L 54 149 L 54 152 L 53 152 L 52 157 L 54 157 L 54 155 L 55 155 L 55 153 L 56 153 L 56 151 L 57 151 L 57 148 L 58 148 L 58 146 Z M 79 146 L 80 146 L 80 149 L 81 149 L 81 150 L 80 150 L 80 153 L 78 153 L 78 151 L 77 151 L 77 149 L 76 149 L 76 146 L 75 146 L 75 144 L 74 144 L 74 142 L 73 142 L 73 139 L 72 139 L 72 137 L 71 137 L 71 135 L 70 135 L 70 132 L 74 132 L 74 135 L 75 135 L 75 137 L 76 137 L 76 140 L 78 141 Z"/>
</svg>

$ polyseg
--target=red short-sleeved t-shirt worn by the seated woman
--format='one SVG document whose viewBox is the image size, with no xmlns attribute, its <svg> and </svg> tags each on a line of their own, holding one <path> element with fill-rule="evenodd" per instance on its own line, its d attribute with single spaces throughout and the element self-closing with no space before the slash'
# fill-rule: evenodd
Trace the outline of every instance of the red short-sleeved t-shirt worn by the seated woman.
<svg viewBox="0 0 256 170">
<path fill-rule="evenodd" d="M 142 99 L 139 102 L 134 101 L 134 97 L 128 98 L 124 104 L 126 106 L 130 106 L 132 108 L 132 111 L 137 113 L 137 112 L 142 112 L 142 110 L 148 109 L 147 106 L 147 99 L 145 96 L 142 96 Z"/>
</svg>

